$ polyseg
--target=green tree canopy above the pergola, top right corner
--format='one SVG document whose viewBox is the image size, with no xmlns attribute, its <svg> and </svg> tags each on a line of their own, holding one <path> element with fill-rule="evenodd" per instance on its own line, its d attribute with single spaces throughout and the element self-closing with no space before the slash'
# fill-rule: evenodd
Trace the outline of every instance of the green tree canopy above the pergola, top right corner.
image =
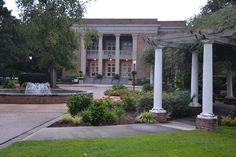
<svg viewBox="0 0 236 157">
<path fill-rule="evenodd" d="M 208 0 L 200 14 L 189 19 L 188 29 L 236 28 L 236 0 Z"/>
</svg>

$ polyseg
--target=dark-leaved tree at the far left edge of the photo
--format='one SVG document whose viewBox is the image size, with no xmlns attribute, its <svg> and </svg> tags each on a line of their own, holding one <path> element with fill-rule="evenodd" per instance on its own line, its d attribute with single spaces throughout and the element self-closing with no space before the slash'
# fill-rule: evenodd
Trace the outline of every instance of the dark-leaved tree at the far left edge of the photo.
<svg viewBox="0 0 236 157">
<path fill-rule="evenodd" d="M 24 39 L 19 32 L 20 21 L 11 16 L 4 4 L 0 0 L 0 75 L 13 76 L 24 67 L 25 53 L 21 51 Z"/>
</svg>

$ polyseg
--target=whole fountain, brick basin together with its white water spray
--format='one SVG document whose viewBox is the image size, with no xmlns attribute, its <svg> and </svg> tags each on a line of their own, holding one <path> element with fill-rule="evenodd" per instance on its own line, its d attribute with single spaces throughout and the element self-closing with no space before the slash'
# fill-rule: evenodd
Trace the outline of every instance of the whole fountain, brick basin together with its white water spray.
<svg viewBox="0 0 236 157">
<path fill-rule="evenodd" d="M 60 104 L 72 94 L 93 97 L 85 91 L 50 89 L 49 83 L 27 83 L 25 89 L 0 89 L 0 104 Z"/>
</svg>

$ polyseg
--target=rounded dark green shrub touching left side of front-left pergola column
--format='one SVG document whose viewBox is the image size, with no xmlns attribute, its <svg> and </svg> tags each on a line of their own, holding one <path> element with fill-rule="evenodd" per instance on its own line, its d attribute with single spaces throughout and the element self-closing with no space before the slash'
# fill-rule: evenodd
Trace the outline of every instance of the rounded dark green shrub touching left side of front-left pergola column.
<svg viewBox="0 0 236 157">
<path fill-rule="evenodd" d="M 138 113 L 149 111 L 153 108 L 153 95 L 145 95 L 139 99 L 136 105 Z"/>
</svg>

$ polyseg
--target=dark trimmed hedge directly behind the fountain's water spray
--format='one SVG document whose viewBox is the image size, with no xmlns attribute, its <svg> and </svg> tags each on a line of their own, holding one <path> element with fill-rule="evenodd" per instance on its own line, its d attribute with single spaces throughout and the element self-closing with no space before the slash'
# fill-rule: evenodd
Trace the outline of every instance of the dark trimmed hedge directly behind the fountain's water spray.
<svg viewBox="0 0 236 157">
<path fill-rule="evenodd" d="M 20 84 L 23 84 L 25 82 L 45 83 L 49 82 L 49 77 L 47 74 L 43 73 L 22 73 L 19 75 L 18 81 Z"/>
</svg>

